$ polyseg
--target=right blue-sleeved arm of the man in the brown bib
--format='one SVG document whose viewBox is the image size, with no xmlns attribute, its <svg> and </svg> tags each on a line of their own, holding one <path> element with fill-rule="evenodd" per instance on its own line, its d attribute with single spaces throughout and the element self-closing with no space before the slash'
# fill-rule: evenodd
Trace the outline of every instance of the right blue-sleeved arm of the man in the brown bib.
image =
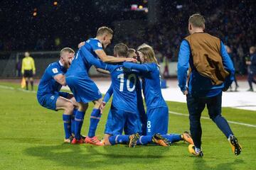
<svg viewBox="0 0 256 170">
<path fill-rule="evenodd" d="M 224 82 L 223 91 L 227 91 L 229 86 L 232 84 L 232 82 L 235 79 L 235 68 L 234 68 L 232 60 L 230 59 L 230 57 L 228 55 L 228 52 L 225 50 L 225 46 L 224 46 L 223 42 L 220 42 L 220 53 L 223 58 L 223 66 L 224 66 L 225 70 L 230 73 L 230 75 L 225 78 L 225 82 Z"/>
</svg>

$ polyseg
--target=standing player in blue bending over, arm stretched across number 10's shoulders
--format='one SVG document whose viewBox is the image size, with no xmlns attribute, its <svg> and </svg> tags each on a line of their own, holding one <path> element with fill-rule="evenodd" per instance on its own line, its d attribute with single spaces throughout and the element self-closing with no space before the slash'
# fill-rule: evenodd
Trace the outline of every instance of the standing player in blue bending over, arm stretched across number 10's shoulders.
<svg viewBox="0 0 256 170">
<path fill-rule="evenodd" d="M 102 142 L 95 137 L 95 130 L 100 121 L 100 104 L 102 102 L 102 94 L 97 88 L 96 84 L 88 76 L 88 71 L 92 66 L 93 58 L 100 59 L 102 62 L 124 62 L 135 61 L 129 58 L 117 58 L 106 55 L 104 48 L 110 44 L 113 36 L 111 28 L 101 27 L 97 30 L 96 38 L 90 38 L 85 42 L 80 50 L 75 55 L 75 59 L 71 64 L 70 69 L 66 74 L 66 81 L 70 90 L 73 92 L 76 101 L 78 101 L 78 111 L 75 113 L 75 138 L 73 144 L 84 142 L 80 139 L 80 130 L 82 128 L 85 111 L 87 110 L 88 103 L 92 101 L 95 106 L 92 110 L 90 117 L 90 128 L 85 142 L 92 145 L 102 145 Z M 89 57 L 86 55 L 90 52 Z M 91 58 L 93 56 L 93 58 Z"/>
</svg>

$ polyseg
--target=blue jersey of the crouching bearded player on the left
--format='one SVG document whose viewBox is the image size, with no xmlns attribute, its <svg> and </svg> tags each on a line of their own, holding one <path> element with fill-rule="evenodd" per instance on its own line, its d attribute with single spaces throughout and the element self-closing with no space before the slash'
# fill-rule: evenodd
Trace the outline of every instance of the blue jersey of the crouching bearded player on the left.
<svg viewBox="0 0 256 170">
<path fill-rule="evenodd" d="M 60 61 L 49 64 L 38 85 L 37 96 L 53 94 L 56 91 L 60 91 L 62 85 L 55 81 L 53 77 L 58 74 L 65 74 L 66 72 L 67 69 L 63 67 L 63 64 L 61 64 Z"/>
</svg>

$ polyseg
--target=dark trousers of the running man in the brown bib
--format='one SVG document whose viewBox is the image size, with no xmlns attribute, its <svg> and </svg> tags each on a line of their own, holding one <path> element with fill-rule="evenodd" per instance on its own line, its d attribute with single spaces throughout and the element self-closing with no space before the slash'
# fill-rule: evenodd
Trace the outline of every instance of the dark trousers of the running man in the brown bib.
<svg viewBox="0 0 256 170">
<path fill-rule="evenodd" d="M 225 136 L 228 138 L 230 135 L 233 135 L 227 120 L 225 120 L 225 118 L 223 118 L 221 115 L 221 98 L 222 93 L 218 94 L 217 96 L 203 98 L 191 96 L 190 94 L 187 95 L 191 136 L 195 146 L 198 149 L 201 149 L 201 113 L 206 106 L 210 119 L 213 120 L 213 122 L 225 134 Z"/>
</svg>

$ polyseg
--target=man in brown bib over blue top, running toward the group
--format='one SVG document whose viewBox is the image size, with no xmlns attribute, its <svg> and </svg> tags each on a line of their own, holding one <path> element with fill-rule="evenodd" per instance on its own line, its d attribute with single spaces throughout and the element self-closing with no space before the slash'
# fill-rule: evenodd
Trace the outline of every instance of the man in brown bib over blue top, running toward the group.
<svg viewBox="0 0 256 170">
<path fill-rule="evenodd" d="M 186 95 L 190 120 L 191 136 L 194 146 L 188 148 L 196 157 L 203 157 L 201 149 L 201 113 L 207 106 L 210 119 L 228 138 L 235 155 L 242 148 L 233 135 L 227 120 L 221 115 L 222 91 L 234 79 L 235 69 L 225 50 L 223 42 L 208 33 L 204 33 L 205 20 L 200 14 L 193 14 L 188 19 L 188 35 L 181 42 L 178 53 L 178 86 Z M 187 71 L 191 72 L 186 86 Z"/>
</svg>

